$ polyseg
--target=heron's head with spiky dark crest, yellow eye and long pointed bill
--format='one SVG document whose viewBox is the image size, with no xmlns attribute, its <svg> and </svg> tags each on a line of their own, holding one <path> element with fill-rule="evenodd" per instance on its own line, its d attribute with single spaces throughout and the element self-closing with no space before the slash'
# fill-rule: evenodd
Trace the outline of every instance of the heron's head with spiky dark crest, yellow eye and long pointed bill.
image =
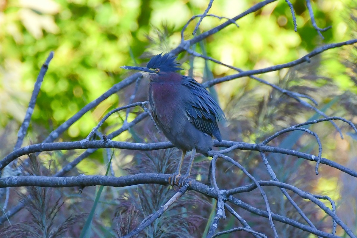
<svg viewBox="0 0 357 238">
<path fill-rule="evenodd" d="M 126 70 L 136 70 L 146 77 L 152 77 L 154 75 L 160 75 L 162 73 L 175 72 L 177 70 L 182 70 L 180 64 L 176 61 L 176 57 L 167 54 L 155 55 L 147 63 L 146 67 L 137 66 L 121 66 L 122 69 Z"/>
</svg>

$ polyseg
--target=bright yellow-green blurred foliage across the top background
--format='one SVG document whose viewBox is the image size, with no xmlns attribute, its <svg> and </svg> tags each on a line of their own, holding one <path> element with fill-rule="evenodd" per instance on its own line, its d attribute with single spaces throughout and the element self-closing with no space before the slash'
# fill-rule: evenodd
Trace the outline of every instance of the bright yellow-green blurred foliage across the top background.
<svg viewBox="0 0 357 238">
<path fill-rule="evenodd" d="M 86 103 L 94 100 L 111 85 L 123 79 L 121 65 L 132 64 L 129 51 L 136 59 L 145 50 L 153 53 L 169 51 L 178 45 L 183 24 L 194 14 L 200 14 L 207 2 L 193 1 L 2 1 L 0 15 L 0 111 L 4 115 L 0 126 L 9 120 L 21 122 L 33 83 L 49 51 L 55 51 L 33 116 L 51 130 L 56 128 Z M 293 2 L 297 13 L 298 32 L 294 32 L 290 9 L 277 1 L 255 14 L 238 20 L 239 28 L 227 27 L 207 40 L 207 53 L 214 58 L 243 69 L 281 64 L 306 54 L 322 43 L 309 20 L 306 6 Z M 324 32 L 324 43 L 350 38 L 345 15 L 348 2 L 318 1 L 313 4 L 317 24 L 332 25 Z M 213 4 L 210 13 L 233 17 L 251 6 L 244 1 L 226 0 Z M 180 12 L 180 14 L 175 14 Z M 175 17 L 172 17 L 175 16 Z M 201 31 L 219 24 L 206 17 Z M 172 30 L 165 47 L 152 45 L 156 30 L 165 24 Z M 188 39 L 194 24 L 185 32 Z M 149 36 L 149 37 L 148 37 Z M 151 39 L 151 40 L 150 40 Z M 162 41 L 156 41 L 160 44 Z M 150 50 L 149 50 L 150 51 Z M 331 53 L 330 53 L 331 54 Z M 335 53 L 336 54 L 336 53 Z M 146 62 L 146 59 L 139 59 Z M 197 60 L 202 62 L 200 60 Z M 324 74 L 334 74 L 342 90 L 353 83 L 343 75 L 345 67 L 331 59 L 324 62 Z M 195 65 L 196 73 L 203 65 Z M 187 68 L 187 65 L 184 65 Z M 223 66 L 213 67 L 214 75 L 232 73 Z M 271 73 L 269 78 L 276 76 Z M 236 80 L 243 81 L 243 80 Z M 241 83 L 222 85 L 225 95 L 237 93 Z M 234 87 L 231 87 L 234 84 Z M 250 87 L 255 83 L 251 83 Z M 106 110 L 118 103 L 112 96 L 91 113 L 71 126 L 65 138 L 82 138 L 95 126 Z M 224 104 L 224 102 L 223 102 Z M 45 135 L 42 135 L 45 136 Z"/>
</svg>

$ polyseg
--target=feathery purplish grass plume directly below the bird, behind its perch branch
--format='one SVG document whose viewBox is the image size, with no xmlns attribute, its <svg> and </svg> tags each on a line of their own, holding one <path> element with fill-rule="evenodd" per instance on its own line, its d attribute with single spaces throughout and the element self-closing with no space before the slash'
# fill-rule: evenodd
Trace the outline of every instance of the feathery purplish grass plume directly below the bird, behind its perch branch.
<svg viewBox="0 0 357 238">
<path fill-rule="evenodd" d="M 150 140 L 154 139 L 150 138 Z M 129 174 L 172 173 L 177 167 L 179 157 L 180 153 L 176 148 L 139 152 L 135 155 L 133 161 L 127 165 L 126 170 Z M 194 167 L 199 164 L 196 163 Z M 187 167 L 187 164 L 185 166 Z M 197 169 L 195 174 L 197 175 Z M 118 226 L 121 229 L 129 227 L 129 225 L 132 229 L 136 228 L 139 225 L 138 221 L 142 221 L 145 217 L 156 212 L 174 194 L 175 191 L 171 187 L 159 184 L 139 185 L 130 189 L 118 199 L 120 205 L 117 207 L 116 216 L 121 221 Z M 209 204 L 197 193 L 187 192 L 160 218 L 144 229 L 140 235 L 155 238 L 198 237 L 201 235 L 198 227 L 204 220 L 198 210 L 202 206 L 209 206 Z"/>
</svg>

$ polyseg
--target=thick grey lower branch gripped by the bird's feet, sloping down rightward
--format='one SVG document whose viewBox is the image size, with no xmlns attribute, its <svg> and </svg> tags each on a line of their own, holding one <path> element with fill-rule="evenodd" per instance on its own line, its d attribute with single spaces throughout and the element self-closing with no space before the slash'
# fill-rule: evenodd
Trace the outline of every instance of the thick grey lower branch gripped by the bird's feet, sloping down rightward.
<svg viewBox="0 0 357 238">
<path fill-rule="evenodd" d="M 135 174 L 131 176 L 122 176 L 122 177 L 111 177 L 111 176 L 76 176 L 76 177 L 46 177 L 46 176 L 16 176 L 16 177 L 6 177 L 0 178 L 0 187 L 19 187 L 19 186 L 38 186 L 38 187 L 87 187 L 87 186 L 112 186 L 112 187 L 125 187 L 132 186 L 137 184 L 147 184 L 147 183 L 156 183 L 162 185 L 168 185 L 168 179 L 171 174 Z M 260 181 L 262 184 L 264 181 Z M 274 181 L 266 181 L 274 182 Z M 205 194 L 208 197 L 218 199 L 218 194 L 215 189 L 208 187 L 205 184 L 195 181 L 194 179 L 187 179 L 188 189 L 194 190 L 196 192 Z M 255 208 L 247 203 L 242 202 L 241 200 L 229 196 L 227 201 L 236 204 L 237 206 L 262 217 L 268 218 L 268 213 L 262 211 L 258 208 Z M 313 229 L 309 226 L 301 224 L 293 219 L 280 216 L 274 213 L 271 213 L 272 219 L 279 221 L 296 228 L 299 228 L 303 231 L 316 234 L 317 236 L 325 238 L 336 238 L 338 236 L 326 233 L 317 229 Z M 350 235 L 350 233 L 348 233 Z M 355 238 L 355 236 L 352 236 Z"/>
</svg>

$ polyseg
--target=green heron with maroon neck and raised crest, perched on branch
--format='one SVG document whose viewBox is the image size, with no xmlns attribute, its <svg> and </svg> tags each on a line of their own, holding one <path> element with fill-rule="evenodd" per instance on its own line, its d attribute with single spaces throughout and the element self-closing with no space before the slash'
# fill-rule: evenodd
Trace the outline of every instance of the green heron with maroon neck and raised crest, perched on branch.
<svg viewBox="0 0 357 238">
<path fill-rule="evenodd" d="M 181 161 L 169 183 L 182 186 L 190 176 L 196 151 L 208 157 L 212 150 L 212 135 L 222 141 L 217 120 L 225 115 L 205 87 L 190 77 L 180 75 L 182 70 L 176 57 L 170 54 L 155 55 L 146 67 L 122 66 L 127 70 L 137 70 L 149 83 L 149 108 L 159 129 L 182 150 Z M 181 176 L 181 166 L 186 152 L 191 152 L 190 164 Z"/>
</svg>

